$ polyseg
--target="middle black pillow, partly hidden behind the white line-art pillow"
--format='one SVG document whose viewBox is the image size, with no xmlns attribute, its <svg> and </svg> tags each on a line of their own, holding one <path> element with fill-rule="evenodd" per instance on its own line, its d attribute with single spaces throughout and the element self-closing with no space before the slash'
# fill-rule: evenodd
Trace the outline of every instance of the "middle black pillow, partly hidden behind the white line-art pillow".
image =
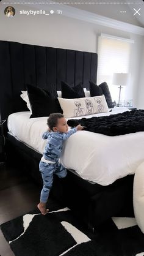
<svg viewBox="0 0 144 256">
<path fill-rule="evenodd" d="M 74 99 L 74 98 L 83 98 L 85 97 L 84 89 L 82 83 L 74 87 L 70 87 L 67 83 L 61 82 L 62 86 L 62 98 L 65 99 Z"/>
</svg>

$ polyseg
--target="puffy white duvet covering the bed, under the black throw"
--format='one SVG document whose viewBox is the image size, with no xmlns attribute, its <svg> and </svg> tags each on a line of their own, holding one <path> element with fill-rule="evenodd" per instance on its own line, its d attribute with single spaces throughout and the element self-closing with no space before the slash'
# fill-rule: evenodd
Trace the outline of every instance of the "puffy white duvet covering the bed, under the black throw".
<svg viewBox="0 0 144 256">
<path fill-rule="evenodd" d="M 126 108 L 115 108 L 110 113 L 94 116 L 110 115 L 126 110 Z M 41 136 L 48 129 L 47 117 L 29 119 L 30 115 L 28 111 L 10 115 L 8 128 L 18 140 L 42 153 L 46 140 Z M 76 132 L 65 141 L 60 159 L 66 168 L 73 169 L 82 178 L 103 186 L 135 173 L 143 160 L 144 132 L 109 137 L 84 130 Z"/>
</svg>

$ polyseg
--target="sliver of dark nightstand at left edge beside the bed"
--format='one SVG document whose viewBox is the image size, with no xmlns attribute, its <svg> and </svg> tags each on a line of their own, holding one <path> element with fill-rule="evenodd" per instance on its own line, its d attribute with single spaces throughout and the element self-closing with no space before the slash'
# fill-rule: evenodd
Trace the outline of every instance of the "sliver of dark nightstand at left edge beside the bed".
<svg viewBox="0 0 144 256">
<path fill-rule="evenodd" d="M 5 137 L 3 124 L 6 120 L 0 121 L 0 164 L 5 162 Z"/>
</svg>

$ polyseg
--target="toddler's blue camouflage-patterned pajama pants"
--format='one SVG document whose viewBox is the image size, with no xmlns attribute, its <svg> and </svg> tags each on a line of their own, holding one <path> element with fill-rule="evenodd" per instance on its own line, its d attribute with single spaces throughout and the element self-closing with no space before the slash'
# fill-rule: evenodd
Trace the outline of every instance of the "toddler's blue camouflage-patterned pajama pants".
<svg viewBox="0 0 144 256">
<path fill-rule="evenodd" d="M 59 176 L 59 178 L 65 178 L 67 170 L 59 162 L 56 162 L 55 164 L 46 164 L 45 162 L 40 161 L 39 167 L 43 178 L 43 189 L 41 190 L 40 201 L 46 203 L 48 201 L 49 191 L 52 187 L 54 173 Z"/>
</svg>

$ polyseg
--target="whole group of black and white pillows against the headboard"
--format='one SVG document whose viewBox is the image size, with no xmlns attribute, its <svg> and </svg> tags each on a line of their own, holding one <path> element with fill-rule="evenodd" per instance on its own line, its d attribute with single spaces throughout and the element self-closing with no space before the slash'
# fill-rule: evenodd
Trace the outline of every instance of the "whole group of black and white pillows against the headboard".
<svg viewBox="0 0 144 256">
<path fill-rule="evenodd" d="M 27 85 L 27 91 L 23 91 L 21 97 L 31 111 L 30 118 L 49 116 L 51 113 L 63 113 L 65 117 L 71 118 L 107 112 L 113 107 L 106 82 L 98 86 L 90 81 L 90 92 L 87 92 L 92 97 L 85 97 L 82 83 L 71 87 L 62 81 L 61 86 L 62 98 L 57 94 L 56 85 L 50 85 L 48 89 Z"/>
</svg>

